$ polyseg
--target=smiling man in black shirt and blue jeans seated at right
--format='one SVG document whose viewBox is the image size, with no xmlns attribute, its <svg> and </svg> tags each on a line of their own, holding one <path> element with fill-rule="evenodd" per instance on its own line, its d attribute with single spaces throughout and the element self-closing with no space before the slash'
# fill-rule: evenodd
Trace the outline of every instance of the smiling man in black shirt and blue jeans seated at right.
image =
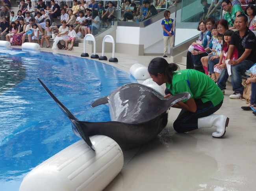
<svg viewBox="0 0 256 191">
<path fill-rule="evenodd" d="M 231 65 L 231 82 L 234 93 L 229 97 L 232 99 L 239 99 L 243 94 L 243 86 L 241 84 L 242 74 L 248 70 L 256 62 L 256 41 L 255 35 L 247 27 L 248 19 L 246 15 L 238 15 L 236 17 L 235 25 L 238 31 L 231 36 L 230 45 L 228 48 L 227 59 L 229 60 L 233 54 L 234 47 L 238 51 L 237 60 L 229 60 Z M 225 63 L 223 63 L 225 66 Z M 225 66 L 226 68 L 226 66 Z M 228 80 L 227 69 L 221 71 L 217 85 L 223 91 L 226 89 L 226 81 Z"/>
</svg>

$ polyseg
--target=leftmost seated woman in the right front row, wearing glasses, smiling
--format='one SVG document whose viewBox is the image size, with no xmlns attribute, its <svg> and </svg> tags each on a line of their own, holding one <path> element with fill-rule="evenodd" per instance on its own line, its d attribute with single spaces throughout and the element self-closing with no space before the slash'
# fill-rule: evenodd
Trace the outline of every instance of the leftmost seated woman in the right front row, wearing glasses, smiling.
<svg viewBox="0 0 256 191">
<path fill-rule="evenodd" d="M 198 37 L 198 40 L 196 40 L 196 42 L 193 42 L 190 47 L 193 47 L 194 44 L 197 45 L 202 45 L 202 42 L 206 36 L 206 33 L 208 33 L 207 29 L 206 29 L 206 22 L 205 21 L 199 21 L 198 23 L 198 27 L 197 27 L 198 31 L 201 31 Z M 192 60 L 192 56 L 191 56 L 191 51 L 189 50 L 187 51 L 187 64 L 186 64 L 186 69 L 194 69 L 194 64 L 193 64 L 193 60 Z"/>
</svg>

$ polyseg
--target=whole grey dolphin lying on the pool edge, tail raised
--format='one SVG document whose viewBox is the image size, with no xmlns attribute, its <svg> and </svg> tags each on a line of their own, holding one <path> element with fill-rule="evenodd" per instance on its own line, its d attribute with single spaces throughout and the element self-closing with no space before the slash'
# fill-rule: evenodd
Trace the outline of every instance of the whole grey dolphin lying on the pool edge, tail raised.
<svg viewBox="0 0 256 191">
<path fill-rule="evenodd" d="M 185 92 L 164 98 L 158 91 L 142 84 L 126 84 L 109 96 L 93 102 L 92 107 L 109 103 L 111 121 L 85 122 L 78 120 L 38 78 L 48 94 L 55 100 L 72 123 L 74 133 L 95 151 L 89 136 L 105 135 L 121 148 L 139 146 L 154 139 L 167 124 L 167 109 L 176 102 L 188 99 Z"/>
</svg>

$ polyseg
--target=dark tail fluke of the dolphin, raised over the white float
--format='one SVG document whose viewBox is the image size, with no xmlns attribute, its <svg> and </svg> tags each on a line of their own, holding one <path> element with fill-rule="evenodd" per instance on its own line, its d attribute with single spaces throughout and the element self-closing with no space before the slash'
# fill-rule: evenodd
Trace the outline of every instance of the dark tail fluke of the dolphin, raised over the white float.
<svg viewBox="0 0 256 191">
<path fill-rule="evenodd" d="M 43 85 L 43 87 L 45 88 L 45 90 L 47 91 L 47 93 L 52 97 L 52 99 L 54 99 L 54 101 L 58 104 L 59 108 L 61 109 L 61 111 L 63 111 L 63 113 L 69 118 L 69 120 L 72 123 L 72 129 L 74 131 L 74 133 L 80 137 L 83 138 L 83 140 L 87 143 L 87 145 L 93 150 L 95 151 L 95 148 L 93 146 L 93 144 L 91 143 L 91 140 L 86 132 L 86 127 L 85 124 L 80 122 L 68 109 L 67 107 L 65 107 L 57 98 L 55 95 L 53 95 L 53 93 L 48 89 L 48 87 L 46 87 L 46 85 L 38 78 L 39 82 Z"/>
</svg>

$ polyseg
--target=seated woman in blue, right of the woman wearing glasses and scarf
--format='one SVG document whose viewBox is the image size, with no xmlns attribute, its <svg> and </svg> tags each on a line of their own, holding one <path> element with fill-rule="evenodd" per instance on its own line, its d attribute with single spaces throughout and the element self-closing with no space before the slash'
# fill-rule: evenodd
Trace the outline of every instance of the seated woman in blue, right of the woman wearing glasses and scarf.
<svg viewBox="0 0 256 191">
<path fill-rule="evenodd" d="M 198 51 L 196 49 L 193 49 L 191 51 L 191 57 L 192 57 L 192 61 L 194 64 L 194 69 L 201 71 L 202 73 L 205 73 L 205 71 L 202 67 L 201 58 L 203 56 L 208 55 L 206 52 L 208 52 L 208 53 L 211 52 L 210 51 L 210 48 L 212 48 L 211 41 L 213 40 L 211 30 L 212 30 L 214 24 L 215 24 L 214 18 L 208 18 L 206 20 L 206 29 L 208 30 L 208 32 L 206 33 L 206 36 L 201 45 L 202 47 L 204 47 L 205 51 Z"/>
</svg>

